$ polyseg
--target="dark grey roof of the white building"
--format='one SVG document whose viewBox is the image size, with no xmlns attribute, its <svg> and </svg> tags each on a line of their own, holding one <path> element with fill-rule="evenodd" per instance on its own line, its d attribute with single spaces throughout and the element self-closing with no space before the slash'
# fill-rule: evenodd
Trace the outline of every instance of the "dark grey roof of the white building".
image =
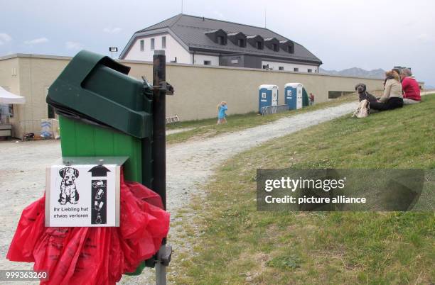
<svg viewBox="0 0 435 285">
<path fill-rule="evenodd" d="M 292 42 L 294 43 L 294 53 L 292 54 L 282 49 L 280 49 L 279 52 L 275 52 L 267 47 L 264 47 L 263 50 L 258 50 L 257 48 L 252 47 L 249 44 L 246 47 L 239 47 L 237 45 L 234 45 L 230 41 L 227 42 L 227 45 L 219 45 L 218 43 L 213 42 L 213 40 L 205 35 L 205 33 L 213 30 L 222 29 L 225 30 L 225 32 L 228 34 L 242 32 L 247 35 L 247 37 L 252 35 L 260 35 L 264 39 L 276 38 L 280 42 L 289 39 L 284 38 L 282 35 L 274 33 L 272 32 L 272 30 L 269 30 L 267 28 L 259 28 L 198 16 L 178 14 L 176 16 L 173 16 L 172 18 L 168 18 L 167 20 L 162 21 L 161 23 L 149 26 L 148 28 L 145 28 L 143 30 L 138 30 L 135 35 L 142 32 L 150 32 L 152 30 L 160 28 L 170 29 L 185 45 L 188 46 L 189 50 L 203 50 L 210 52 L 238 54 L 245 53 L 249 55 L 260 55 L 262 57 L 269 58 L 308 61 L 316 62 L 318 64 L 322 63 L 321 60 L 316 57 L 316 55 L 313 55 L 304 46 L 299 45 L 299 43 L 295 43 L 293 41 Z M 124 50 L 128 50 L 128 47 L 126 47 Z"/>
</svg>

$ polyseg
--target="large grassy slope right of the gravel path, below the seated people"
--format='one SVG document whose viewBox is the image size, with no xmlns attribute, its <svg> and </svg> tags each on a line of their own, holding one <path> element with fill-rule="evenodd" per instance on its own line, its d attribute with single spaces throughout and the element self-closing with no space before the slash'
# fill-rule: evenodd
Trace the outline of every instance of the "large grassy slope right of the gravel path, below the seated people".
<svg viewBox="0 0 435 285">
<path fill-rule="evenodd" d="M 424 96 L 418 105 L 344 116 L 227 160 L 207 196 L 192 202 L 195 256 L 183 259 L 173 281 L 433 284 L 434 213 L 257 212 L 255 175 L 284 167 L 435 169 L 434 110 L 435 95 Z"/>
</svg>

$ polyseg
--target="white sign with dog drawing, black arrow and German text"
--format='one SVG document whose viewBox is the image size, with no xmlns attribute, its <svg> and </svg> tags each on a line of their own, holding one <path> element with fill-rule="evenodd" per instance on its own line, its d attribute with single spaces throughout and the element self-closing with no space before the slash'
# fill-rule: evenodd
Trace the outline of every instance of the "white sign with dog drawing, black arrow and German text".
<svg viewBox="0 0 435 285">
<path fill-rule="evenodd" d="M 46 227 L 119 226 L 119 165 L 56 164 L 46 175 Z"/>
</svg>

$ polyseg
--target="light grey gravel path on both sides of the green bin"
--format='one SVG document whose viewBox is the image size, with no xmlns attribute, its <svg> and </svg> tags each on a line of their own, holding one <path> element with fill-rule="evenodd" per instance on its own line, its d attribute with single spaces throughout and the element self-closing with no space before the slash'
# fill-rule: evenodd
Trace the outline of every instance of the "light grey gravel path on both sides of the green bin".
<svg viewBox="0 0 435 285">
<path fill-rule="evenodd" d="M 281 118 L 274 123 L 260 125 L 205 140 L 192 140 L 171 145 L 167 149 L 167 194 L 171 220 L 178 209 L 187 205 L 189 194 L 199 188 L 224 160 L 272 138 L 294 133 L 350 113 L 355 103 Z M 31 269 L 32 264 L 9 262 L 6 252 L 14 235 L 21 211 L 43 194 L 45 167 L 60 157 L 58 141 L 0 142 L 0 269 Z M 187 222 L 187 221 L 183 221 Z M 176 252 L 177 230 L 171 228 L 170 244 Z M 152 283 L 154 270 L 146 269 L 141 276 L 125 276 L 123 284 Z"/>
</svg>

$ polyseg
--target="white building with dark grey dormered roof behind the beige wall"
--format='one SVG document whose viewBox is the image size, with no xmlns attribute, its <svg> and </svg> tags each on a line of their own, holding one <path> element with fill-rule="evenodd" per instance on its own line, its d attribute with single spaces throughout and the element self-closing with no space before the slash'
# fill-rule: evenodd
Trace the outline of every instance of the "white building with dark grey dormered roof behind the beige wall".
<svg viewBox="0 0 435 285">
<path fill-rule="evenodd" d="M 267 28 L 183 14 L 134 33 L 120 58 L 151 61 L 154 50 L 165 50 L 168 62 L 193 65 L 318 72 L 322 64 L 304 46 Z"/>
</svg>

